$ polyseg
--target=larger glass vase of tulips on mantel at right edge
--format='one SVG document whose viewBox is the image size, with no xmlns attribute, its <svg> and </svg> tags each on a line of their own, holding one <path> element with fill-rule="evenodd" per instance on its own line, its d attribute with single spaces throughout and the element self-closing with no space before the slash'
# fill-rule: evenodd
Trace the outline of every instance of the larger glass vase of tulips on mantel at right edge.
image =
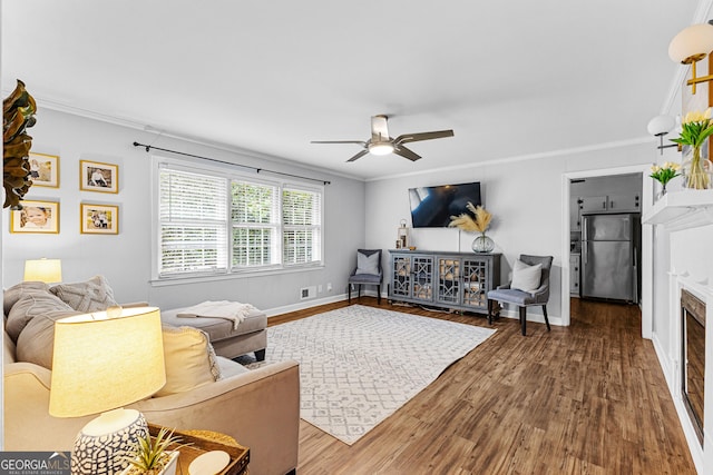
<svg viewBox="0 0 713 475">
<path fill-rule="evenodd" d="M 713 135 L 713 120 L 711 120 L 711 108 L 705 112 L 697 110 L 686 113 L 681 121 L 681 136 L 671 141 L 687 145 L 693 149 L 688 160 L 682 167 L 683 186 L 693 189 L 709 189 L 713 186 L 711 175 L 713 164 L 703 157 L 702 148 L 705 140 Z"/>
</svg>

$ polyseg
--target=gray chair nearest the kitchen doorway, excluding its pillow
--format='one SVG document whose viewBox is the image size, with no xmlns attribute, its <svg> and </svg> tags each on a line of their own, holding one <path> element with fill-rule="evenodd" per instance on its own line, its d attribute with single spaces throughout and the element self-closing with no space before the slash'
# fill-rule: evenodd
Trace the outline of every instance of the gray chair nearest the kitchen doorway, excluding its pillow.
<svg viewBox="0 0 713 475">
<path fill-rule="evenodd" d="M 510 283 L 498 286 L 496 289 L 488 291 L 488 321 L 492 323 L 492 317 L 498 314 L 497 310 L 494 310 L 495 301 L 516 305 L 520 313 L 520 327 L 522 336 L 525 336 L 527 335 L 527 307 L 541 306 L 543 314 L 545 315 L 545 324 L 547 325 L 547 331 L 549 331 L 547 300 L 549 299 L 549 271 L 553 267 L 553 256 L 530 256 L 521 254 L 519 259 L 528 266 L 535 266 L 537 264 L 543 265 L 539 287 L 529 293 L 510 288 Z"/>
</svg>

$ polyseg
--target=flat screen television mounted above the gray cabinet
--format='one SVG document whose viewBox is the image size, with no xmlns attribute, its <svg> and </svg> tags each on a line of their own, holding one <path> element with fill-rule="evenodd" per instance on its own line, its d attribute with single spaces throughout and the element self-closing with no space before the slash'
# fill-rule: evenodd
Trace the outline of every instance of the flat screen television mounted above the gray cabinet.
<svg viewBox="0 0 713 475">
<path fill-rule="evenodd" d="M 472 216 L 466 208 L 468 202 L 482 205 L 480 182 L 410 188 L 409 202 L 414 228 L 447 227 L 451 216 L 463 212 Z"/>
</svg>

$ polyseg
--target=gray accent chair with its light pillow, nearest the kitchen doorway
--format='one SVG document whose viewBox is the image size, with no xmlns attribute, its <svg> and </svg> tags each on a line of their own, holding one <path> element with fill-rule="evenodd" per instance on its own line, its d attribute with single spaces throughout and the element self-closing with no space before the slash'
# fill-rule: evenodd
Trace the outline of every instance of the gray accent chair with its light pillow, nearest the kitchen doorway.
<svg viewBox="0 0 713 475">
<path fill-rule="evenodd" d="M 527 307 L 541 306 L 545 324 L 547 319 L 547 300 L 549 299 L 549 270 L 553 256 L 529 256 L 521 254 L 512 266 L 510 284 L 498 286 L 488 291 L 488 321 L 492 323 L 494 301 L 516 305 L 520 313 L 522 336 L 527 335 Z"/>
</svg>

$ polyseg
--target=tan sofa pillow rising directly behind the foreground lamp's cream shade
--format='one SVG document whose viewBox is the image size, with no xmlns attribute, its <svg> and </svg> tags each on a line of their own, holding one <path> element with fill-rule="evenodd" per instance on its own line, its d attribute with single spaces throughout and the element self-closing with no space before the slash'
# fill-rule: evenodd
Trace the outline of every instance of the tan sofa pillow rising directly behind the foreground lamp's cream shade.
<svg viewBox="0 0 713 475">
<path fill-rule="evenodd" d="M 22 301 L 20 300 L 18 305 Z M 52 369 L 55 321 L 72 315 L 81 315 L 81 311 L 72 310 L 68 305 L 65 306 L 65 309 L 48 310 L 36 315 L 18 337 L 18 362 L 35 363 L 47 369 Z"/>
</svg>

